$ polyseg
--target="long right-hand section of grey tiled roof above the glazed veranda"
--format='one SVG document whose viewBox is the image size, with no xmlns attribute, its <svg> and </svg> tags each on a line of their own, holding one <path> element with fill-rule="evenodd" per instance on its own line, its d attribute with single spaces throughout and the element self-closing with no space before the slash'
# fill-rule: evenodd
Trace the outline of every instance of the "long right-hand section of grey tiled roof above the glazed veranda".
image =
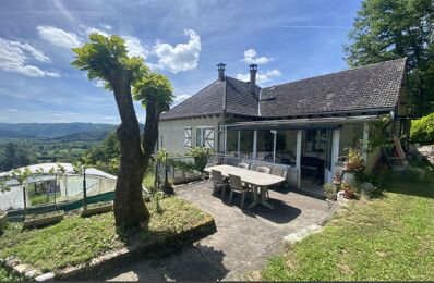
<svg viewBox="0 0 434 283">
<path fill-rule="evenodd" d="M 262 89 L 261 115 L 285 116 L 395 108 L 406 59 L 386 61 L 338 73 Z"/>
</svg>

